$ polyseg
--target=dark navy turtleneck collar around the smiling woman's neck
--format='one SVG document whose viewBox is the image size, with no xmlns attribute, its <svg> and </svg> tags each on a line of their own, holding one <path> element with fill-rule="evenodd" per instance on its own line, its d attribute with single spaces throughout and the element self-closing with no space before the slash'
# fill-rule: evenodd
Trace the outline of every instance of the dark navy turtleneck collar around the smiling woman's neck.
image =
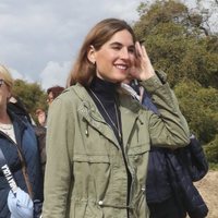
<svg viewBox="0 0 218 218">
<path fill-rule="evenodd" d="M 97 95 L 105 98 L 105 100 L 114 100 L 118 84 L 104 81 L 95 76 L 90 83 L 89 88 Z"/>
</svg>

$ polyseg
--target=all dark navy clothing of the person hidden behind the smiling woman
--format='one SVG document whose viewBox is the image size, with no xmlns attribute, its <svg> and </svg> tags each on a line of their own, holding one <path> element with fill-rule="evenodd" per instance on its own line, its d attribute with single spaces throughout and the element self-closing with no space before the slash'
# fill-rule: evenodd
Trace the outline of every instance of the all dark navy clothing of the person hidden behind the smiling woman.
<svg viewBox="0 0 218 218">
<path fill-rule="evenodd" d="M 142 104 L 158 113 L 147 94 Z M 195 137 L 191 138 L 189 146 L 175 150 L 152 146 L 146 180 L 148 206 L 173 195 L 178 207 L 182 205 L 191 218 L 206 217 L 208 208 L 193 182 L 201 180 L 207 171 L 207 160 Z"/>
</svg>

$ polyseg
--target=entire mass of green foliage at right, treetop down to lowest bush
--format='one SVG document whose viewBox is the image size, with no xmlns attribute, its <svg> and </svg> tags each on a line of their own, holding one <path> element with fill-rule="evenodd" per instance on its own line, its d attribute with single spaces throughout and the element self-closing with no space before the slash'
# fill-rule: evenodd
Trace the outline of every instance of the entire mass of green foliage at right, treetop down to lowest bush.
<svg viewBox="0 0 218 218">
<path fill-rule="evenodd" d="M 155 69 L 167 73 L 191 131 L 206 145 L 209 161 L 217 164 L 218 33 L 209 26 L 211 13 L 203 1 L 196 1 L 197 10 L 173 0 L 144 1 L 133 28 Z"/>
</svg>

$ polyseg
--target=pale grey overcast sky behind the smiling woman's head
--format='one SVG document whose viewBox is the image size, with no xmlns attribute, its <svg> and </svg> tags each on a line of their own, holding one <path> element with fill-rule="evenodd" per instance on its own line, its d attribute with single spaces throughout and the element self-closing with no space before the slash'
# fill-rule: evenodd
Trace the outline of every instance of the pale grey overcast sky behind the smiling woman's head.
<svg viewBox="0 0 218 218">
<path fill-rule="evenodd" d="M 87 32 L 102 19 L 138 19 L 142 0 L 0 0 L 0 63 L 44 89 L 65 85 Z"/>
</svg>

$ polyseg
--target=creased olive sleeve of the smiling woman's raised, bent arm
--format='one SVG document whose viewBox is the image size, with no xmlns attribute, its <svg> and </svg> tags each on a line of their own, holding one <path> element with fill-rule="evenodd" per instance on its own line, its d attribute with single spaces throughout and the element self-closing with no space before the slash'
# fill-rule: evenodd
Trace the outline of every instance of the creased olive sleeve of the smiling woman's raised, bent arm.
<svg viewBox="0 0 218 218">
<path fill-rule="evenodd" d="M 160 76 L 159 76 L 160 75 Z M 141 85 L 150 94 L 158 114 L 149 119 L 152 145 L 162 147 L 181 147 L 190 143 L 190 131 L 182 116 L 174 93 L 162 74 L 155 75 Z"/>
</svg>

